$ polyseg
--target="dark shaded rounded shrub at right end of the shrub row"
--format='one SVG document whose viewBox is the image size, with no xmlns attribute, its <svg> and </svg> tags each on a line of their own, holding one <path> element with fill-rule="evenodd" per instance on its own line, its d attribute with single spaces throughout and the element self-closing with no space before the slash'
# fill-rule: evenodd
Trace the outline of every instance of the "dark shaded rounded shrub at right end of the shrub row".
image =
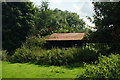
<svg viewBox="0 0 120 80">
<path fill-rule="evenodd" d="M 90 63 L 92 61 L 96 61 L 98 59 L 98 53 L 94 50 L 90 50 L 89 48 L 77 48 L 76 51 L 74 51 L 74 60 L 80 61 L 80 62 L 87 62 Z"/>
</svg>

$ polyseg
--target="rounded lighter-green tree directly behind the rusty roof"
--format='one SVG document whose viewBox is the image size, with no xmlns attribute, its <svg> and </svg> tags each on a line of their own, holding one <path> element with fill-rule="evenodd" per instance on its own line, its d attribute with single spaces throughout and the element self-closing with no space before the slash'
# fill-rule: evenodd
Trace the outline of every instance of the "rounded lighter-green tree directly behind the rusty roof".
<svg viewBox="0 0 120 80">
<path fill-rule="evenodd" d="M 80 19 L 77 13 L 54 10 L 54 22 L 56 25 L 55 32 L 85 32 L 85 22 Z"/>
</svg>

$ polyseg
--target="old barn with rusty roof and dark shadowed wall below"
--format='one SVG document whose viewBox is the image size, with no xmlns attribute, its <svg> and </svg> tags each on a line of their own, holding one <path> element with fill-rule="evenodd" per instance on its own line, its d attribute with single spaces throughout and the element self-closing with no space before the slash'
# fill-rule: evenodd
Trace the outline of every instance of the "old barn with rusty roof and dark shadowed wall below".
<svg viewBox="0 0 120 80">
<path fill-rule="evenodd" d="M 82 46 L 87 40 L 86 33 L 54 33 L 46 39 L 47 43 L 57 47 Z"/>
</svg>

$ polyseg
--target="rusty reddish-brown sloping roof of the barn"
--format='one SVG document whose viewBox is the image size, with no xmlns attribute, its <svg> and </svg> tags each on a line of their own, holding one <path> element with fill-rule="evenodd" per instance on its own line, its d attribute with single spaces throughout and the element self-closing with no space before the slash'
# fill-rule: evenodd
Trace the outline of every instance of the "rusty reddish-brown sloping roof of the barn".
<svg viewBox="0 0 120 80">
<path fill-rule="evenodd" d="M 86 33 L 54 33 L 48 37 L 48 41 L 56 40 L 83 40 Z"/>
</svg>

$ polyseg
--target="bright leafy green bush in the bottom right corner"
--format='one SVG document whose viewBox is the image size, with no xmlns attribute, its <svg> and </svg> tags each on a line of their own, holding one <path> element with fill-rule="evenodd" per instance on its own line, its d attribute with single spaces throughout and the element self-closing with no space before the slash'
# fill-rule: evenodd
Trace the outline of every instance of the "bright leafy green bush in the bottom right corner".
<svg viewBox="0 0 120 80">
<path fill-rule="evenodd" d="M 100 56 L 93 65 L 85 65 L 86 71 L 80 78 L 120 78 L 120 55 Z"/>
</svg>

